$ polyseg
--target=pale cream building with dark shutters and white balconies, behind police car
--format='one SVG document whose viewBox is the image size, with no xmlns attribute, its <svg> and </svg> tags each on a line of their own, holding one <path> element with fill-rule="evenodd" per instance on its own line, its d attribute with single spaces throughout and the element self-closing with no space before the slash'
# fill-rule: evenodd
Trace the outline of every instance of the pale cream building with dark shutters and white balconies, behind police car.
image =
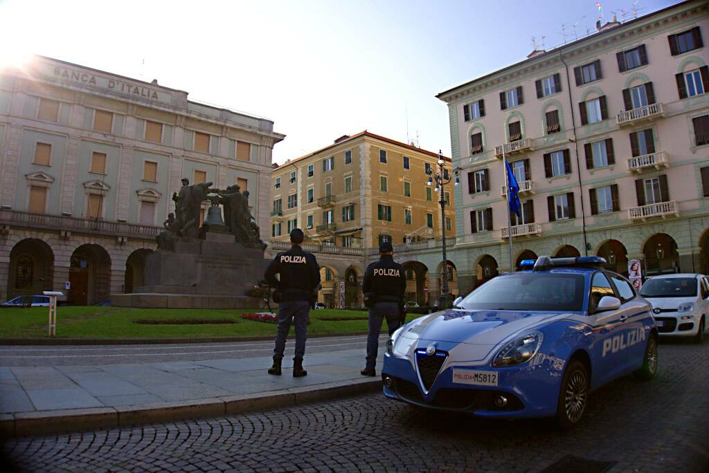
<svg viewBox="0 0 709 473">
<path fill-rule="evenodd" d="M 513 266 L 600 255 L 709 272 L 709 6 L 686 1 L 440 93 L 462 292 L 510 268 L 506 154 L 520 183 Z"/>
</svg>

